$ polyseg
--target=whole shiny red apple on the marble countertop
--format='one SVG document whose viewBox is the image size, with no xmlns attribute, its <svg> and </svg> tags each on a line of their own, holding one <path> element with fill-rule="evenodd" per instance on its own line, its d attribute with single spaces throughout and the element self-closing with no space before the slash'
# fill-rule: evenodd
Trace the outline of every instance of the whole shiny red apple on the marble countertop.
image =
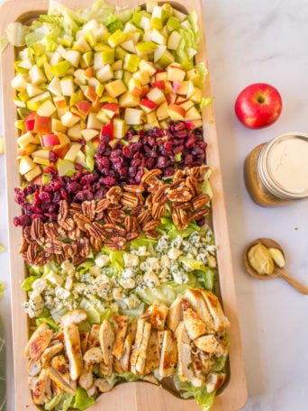
<svg viewBox="0 0 308 411">
<path fill-rule="evenodd" d="M 254 83 L 240 92 L 234 109 L 240 123 L 258 129 L 276 122 L 282 110 L 282 99 L 275 87 Z"/>
</svg>

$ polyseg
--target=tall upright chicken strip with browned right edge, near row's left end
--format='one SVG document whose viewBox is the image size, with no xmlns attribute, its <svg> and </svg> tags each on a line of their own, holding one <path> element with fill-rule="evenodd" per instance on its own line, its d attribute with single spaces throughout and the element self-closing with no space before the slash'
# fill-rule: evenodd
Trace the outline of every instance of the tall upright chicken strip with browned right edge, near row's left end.
<svg viewBox="0 0 308 411">
<path fill-rule="evenodd" d="M 75 381 L 82 372 L 83 359 L 77 324 L 69 323 L 63 328 L 65 349 L 68 356 L 69 376 Z"/>
</svg>

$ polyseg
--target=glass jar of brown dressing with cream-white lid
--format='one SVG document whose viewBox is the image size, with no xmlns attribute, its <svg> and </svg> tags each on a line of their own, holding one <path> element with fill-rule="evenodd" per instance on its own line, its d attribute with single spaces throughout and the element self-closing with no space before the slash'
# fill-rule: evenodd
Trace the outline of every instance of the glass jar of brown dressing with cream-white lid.
<svg viewBox="0 0 308 411">
<path fill-rule="evenodd" d="M 245 160 L 244 179 L 258 205 L 308 198 L 308 132 L 286 132 L 255 147 Z"/>
</svg>

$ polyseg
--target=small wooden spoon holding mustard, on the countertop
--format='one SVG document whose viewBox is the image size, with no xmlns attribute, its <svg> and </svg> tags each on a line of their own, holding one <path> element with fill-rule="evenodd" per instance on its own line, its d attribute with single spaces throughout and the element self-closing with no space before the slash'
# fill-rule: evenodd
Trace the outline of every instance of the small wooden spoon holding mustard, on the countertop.
<svg viewBox="0 0 308 411">
<path fill-rule="evenodd" d="M 285 268 L 281 269 L 275 264 L 274 271 L 271 274 L 258 274 L 258 271 L 256 271 L 250 266 L 248 253 L 249 253 L 250 248 L 253 245 L 258 244 L 258 242 L 261 242 L 267 248 L 276 248 L 280 250 L 285 257 L 285 253 L 283 249 L 281 248 L 280 244 L 278 244 L 278 242 L 275 242 L 274 240 L 270 238 L 258 238 L 258 240 L 250 242 L 244 251 L 244 265 L 245 265 L 245 269 L 250 274 L 250 276 L 254 277 L 255 279 L 275 279 L 276 277 L 281 277 L 282 279 L 285 279 L 297 291 L 299 291 L 302 294 L 308 295 L 308 287 L 305 287 L 302 283 L 297 281 L 297 279 L 294 279 L 293 277 L 289 276 L 285 272 Z"/>
</svg>

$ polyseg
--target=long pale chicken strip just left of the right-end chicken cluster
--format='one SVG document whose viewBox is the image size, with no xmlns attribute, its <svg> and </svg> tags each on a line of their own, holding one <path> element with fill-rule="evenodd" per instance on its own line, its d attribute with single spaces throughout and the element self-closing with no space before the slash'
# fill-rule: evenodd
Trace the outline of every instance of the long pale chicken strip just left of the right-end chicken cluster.
<svg viewBox="0 0 308 411">
<path fill-rule="evenodd" d="M 180 379 L 192 381 L 194 372 L 191 370 L 192 353 L 189 345 L 189 337 L 186 332 L 186 326 L 182 321 L 177 325 L 177 374 Z"/>
</svg>

